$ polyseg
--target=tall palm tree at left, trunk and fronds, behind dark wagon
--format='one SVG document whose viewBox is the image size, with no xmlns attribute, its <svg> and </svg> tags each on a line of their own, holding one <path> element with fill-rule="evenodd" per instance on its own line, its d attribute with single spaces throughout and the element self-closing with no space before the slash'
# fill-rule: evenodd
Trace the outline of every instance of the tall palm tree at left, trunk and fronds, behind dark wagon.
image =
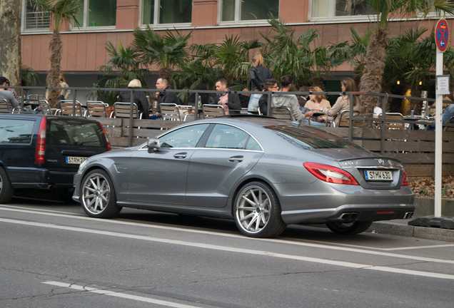
<svg viewBox="0 0 454 308">
<path fill-rule="evenodd" d="M 60 38 L 61 24 L 64 21 L 74 22 L 76 26 L 81 26 L 76 19 L 76 15 L 81 11 L 79 0 L 36 0 L 36 3 L 43 6 L 44 9 L 51 13 L 54 21 L 54 32 L 49 40 L 49 75 L 46 78 L 46 84 L 49 87 L 60 86 L 60 62 L 61 48 L 63 43 Z M 55 108 L 59 103 L 59 91 L 53 90 L 49 93 L 49 105 Z"/>
</svg>

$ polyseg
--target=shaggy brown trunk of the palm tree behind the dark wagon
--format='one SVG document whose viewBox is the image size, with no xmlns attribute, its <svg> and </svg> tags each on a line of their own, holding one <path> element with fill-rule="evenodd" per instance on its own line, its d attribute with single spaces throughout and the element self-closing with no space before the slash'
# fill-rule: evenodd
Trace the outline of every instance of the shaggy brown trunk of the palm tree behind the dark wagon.
<svg viewBox="0 0 454 308">
<path fill-rule="evenodd" d="M 61 62 L 61 48 L 63 43 L 60 39 L 60 34 L 56 31 L 49 40 L 49 61 L 51 62 L 51 68 L 49 69 L 49 75 L 46 78 L 46 84 L 49 87 L 60 86 L 60 62 Z M 48 101 L 51 108 L 57 108 L 59 104 L 60 90 L 48 90 L 49 96 Z"/>
</svg>

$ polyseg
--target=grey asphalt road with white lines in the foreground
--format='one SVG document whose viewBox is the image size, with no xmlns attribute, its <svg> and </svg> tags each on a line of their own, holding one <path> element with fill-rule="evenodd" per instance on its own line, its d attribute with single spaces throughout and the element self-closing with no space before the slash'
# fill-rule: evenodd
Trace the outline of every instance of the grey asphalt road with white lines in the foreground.
<svg viewBox="0 0 454 308">
<path fill-rule="evenodd" d="M 78 204 L 0 205 L 0 307 L 453 307 L 454 243 Z"/>
</svg>

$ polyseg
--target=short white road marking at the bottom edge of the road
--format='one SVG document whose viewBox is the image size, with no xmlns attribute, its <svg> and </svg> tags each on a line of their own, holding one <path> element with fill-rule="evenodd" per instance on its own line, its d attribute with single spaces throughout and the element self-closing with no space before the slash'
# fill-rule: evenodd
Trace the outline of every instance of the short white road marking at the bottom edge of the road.
<svg viewBox="0 0 454 308">
<path fill-rule="evenodd" d="M 148 303 L 151 303 L 151 304 L 160 304 L 160 305 L 168 306 L 168 307 L 175 307 L 175 308 L 200 308 L 198 306 L 190 306 L 190 305 L 186 305 L 186 304 L 178 304 L 176 302 L 167 302 L 167 301 L 163 301 L 163 300 L 160 300 L 160 299 L 152 299 L 152 298 L 149 298 L 149 297 L 139 297 L 139 296 L 136 296 L 136 295 L 120 293 L 120 292 L 113 292 L 113 291 L 108 291 L 108 290 L 104 290 L 104 289 L 94 289 L 94 288 L 91 288 L 91 287 L 83 287 L 83 286 L 79 286 L 77 284 L 67 284 L 67 283 L 63 283 L 63 282 L 52 282 L 52 281 L 51 282 L 42 282 L 42 283 L 50 284 L 50 285 L 53 285 L 53 286 L 56 286 L 56 287 L 64 287 L 64 288 L 69 288 L 69 289 L 76 289 L 78 291 L 92 292 L 92 293 L 96 293 L 96 294 L 103 294 L 103 295 L 109 295 L 109 296 L 113 296 L 113 297 L 120 297 L 120 298 L 123 298 L 123 299 L 133 299 L 133 300 L 136 300 L 138 302 L 148 302 Z"/>
</svg>

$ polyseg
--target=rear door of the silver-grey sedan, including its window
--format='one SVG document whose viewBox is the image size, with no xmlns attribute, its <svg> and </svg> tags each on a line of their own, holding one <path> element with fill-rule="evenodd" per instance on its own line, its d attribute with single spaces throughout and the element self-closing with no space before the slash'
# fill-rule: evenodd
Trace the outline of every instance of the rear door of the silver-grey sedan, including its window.
<svg viewBox="0 0 454 308">
<path fill-rule="evenodd" d="M 186 200 L 196 207 L 225 207 L 233 185 L 263 155 L 257 140 L 231 125 L 216 124 L 188 169 Z"/>
</svg>

